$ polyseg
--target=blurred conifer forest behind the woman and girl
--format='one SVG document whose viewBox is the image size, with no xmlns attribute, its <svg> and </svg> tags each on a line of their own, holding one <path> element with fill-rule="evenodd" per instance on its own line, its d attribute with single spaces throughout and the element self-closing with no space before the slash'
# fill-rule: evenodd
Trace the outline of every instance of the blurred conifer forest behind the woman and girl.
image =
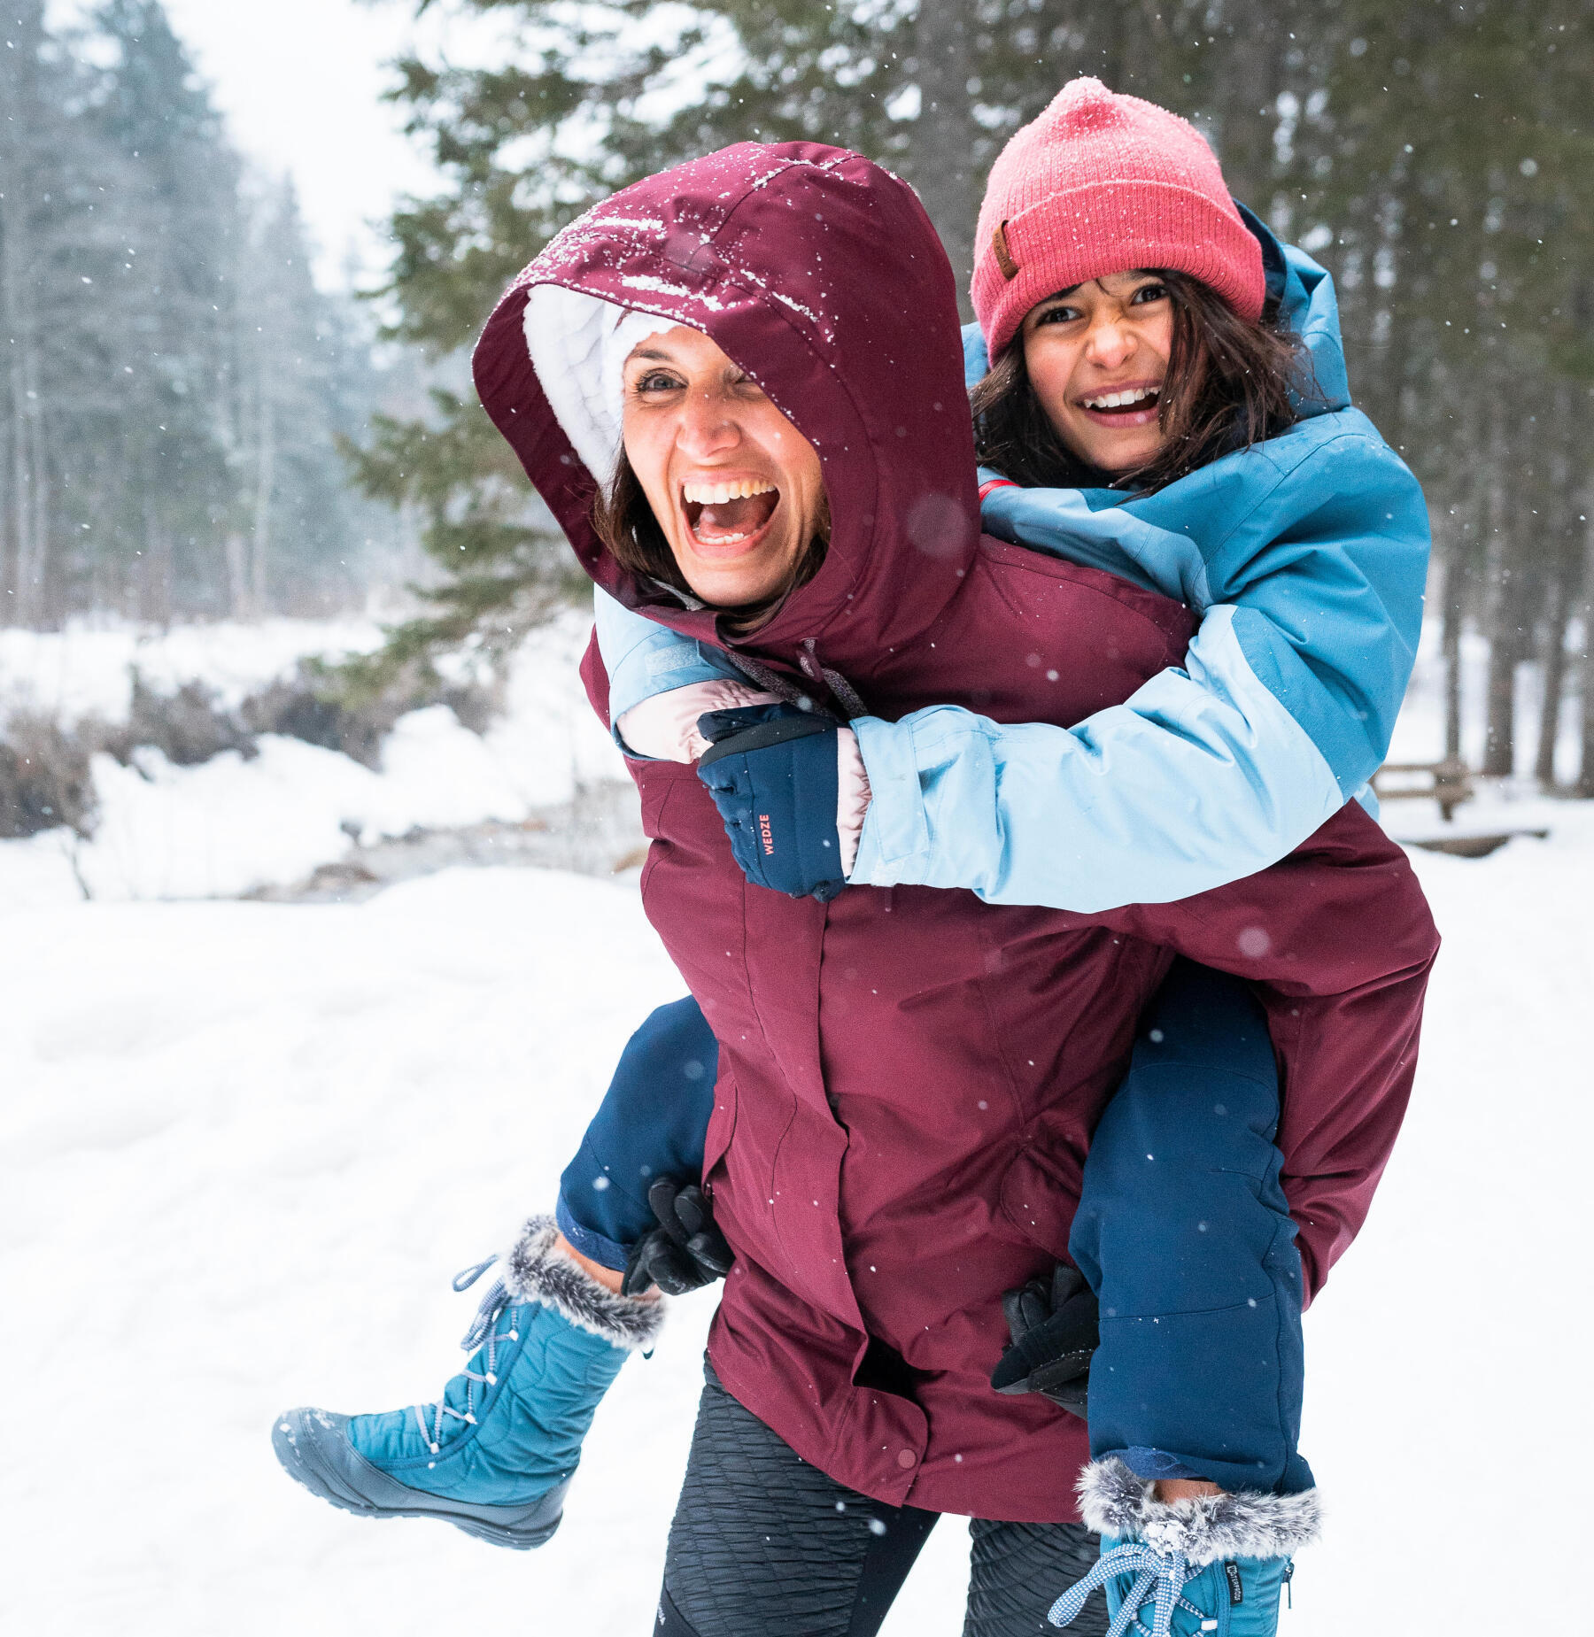
<svg viewBox="0 0 1594 1637">
<path fill-rule="evenodd" d="M 459 363 L 557 228 L 680 157 L 811 138 L 906 175 L 967 283 L 993 157 L 1088 72 L 1196 121 L 1334 272 L 1355 396 L 1429 494 L 1447 750 L 1481 637 L 1479 771 L 1512 769 L 1528 678 L 1538 778 L 1581 694 L 1594 796 L 1594 0 L 372 3 L 503 49 L 395 65 L 444 180 L 364 309 L 316 291 L 156 0 L 74 36 L 0 5 L 0 620 L 354 606 L 416 529 L 380 663 L 518 640 L 567 558 Z"/>
</svg>

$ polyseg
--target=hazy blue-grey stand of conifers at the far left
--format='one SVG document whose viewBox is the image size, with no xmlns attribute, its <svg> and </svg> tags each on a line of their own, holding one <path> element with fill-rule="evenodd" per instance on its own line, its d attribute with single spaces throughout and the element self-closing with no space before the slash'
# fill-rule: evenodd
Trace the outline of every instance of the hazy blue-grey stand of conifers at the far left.
<svg viewBox="0 0 1594 1637">
<path fill-rule="evenodd" d="M 403 535 L 339 453 L 385 391 L 369 318 L 316 290 L 156 0 L 0 26 L 0 620 L 359 598 Z"/>
</svg>

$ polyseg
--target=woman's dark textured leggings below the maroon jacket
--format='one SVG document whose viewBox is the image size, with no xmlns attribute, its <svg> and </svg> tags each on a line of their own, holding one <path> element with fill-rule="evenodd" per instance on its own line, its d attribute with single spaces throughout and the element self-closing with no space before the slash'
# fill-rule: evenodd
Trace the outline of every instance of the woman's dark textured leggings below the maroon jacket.
<svg viewBox="0 0 1594 1637">
<path fill-rule="evenodd" d="M 885 1506 L 809 1467 L 713 1370 L 670 1524 L 655 1637 L 873 1637 L 939 1513 Z M 1047 1609 L 1096 1562 L 1083 1524 L 971 1519 L 963 1637 L 1053 1632 Z M 1103 1637 L 1098 1591 L 1070 1627 Z"/>
</svg>

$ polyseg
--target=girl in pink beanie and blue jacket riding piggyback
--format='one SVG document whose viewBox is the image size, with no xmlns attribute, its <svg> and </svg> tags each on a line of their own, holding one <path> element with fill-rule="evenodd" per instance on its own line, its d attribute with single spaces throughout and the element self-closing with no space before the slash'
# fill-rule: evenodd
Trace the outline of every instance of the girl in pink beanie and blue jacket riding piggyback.
<svg viewBox="0 0 1594 1637">
<path fill-rule="evenodd" d="M 742 796 L 808 779 L 790 822 L 819 845 L 793 851 L 842 868 L 772 876 L 739 858 L 752 879 L 791 892 L 916 884 L 1085 912 L 1263 869 L 1347 799 L 1370 800 L 1422 614 L 1425 507 L 1350 408 L 1329 275 L 1229 200 L 1183 121 L 1093 80 L 1066 87 L 1009 144 L 978 257 L 981 324 L 965 332 L 965 365 L 985 530 L 1191 606 L 1201 627 L 1186 666 L 1070 730 L 953 706 L 899 722 L 854 715 L 834 735 L 829 778 L 808 778 L 811 756 L 791 760 L 788 746 L 742 753 Z M 560 360 L 534 347 L 534 362 L 554 399 Z M 759 498 L 701 504 L 700 532 L 734 545 Z M 629 755 L 695 760 L 703 714 L 793 692 L 601 593 L 598 642 Z M 827 681 L 819 656 L 813 681 L 816 692 Z M 416 1411 L 292 1413 L 278 1429 L 288 1470 L 357 1511 L 441 1516 L 508 1545 L 546 1539 L 598 1398 L 624 1349 L 654 1333 L 619 1272 L 631 1265 L 634 1292 L 649 1275 L 678 1290 L 719 1270 L 701 1195 L 654 1187 L 701 1170 L 714 1062 L 691 1000 L 654 1013 L 564 1175 L 557 1233 L 536 1224 L 483 1303 L 467 1337 L 482 1351 L 465 1373 Z M 1265 1334 L 1237 1318 L 1216 1352 L 1207 1342 L 1191 1360 L 1145 1339 L 1150 1319 L 1230 1305 L 1222 1288 L 1180 1283 L 1176 1241 L 1193 1220 L 1227 1236 L 1235 1265 L 1255 1274 L 1255 1246 L 1288 1218 L 1276 1151 L 1260 1177 L 1227 1172 L 1214 1108 L 1271 1143 L 1266 1025 L 1242 984 L 1176 967 L 1093 1141 L 1070 1242 L 1089 1288 L 1065 1274 L 1050 1292 L 1012 1295 L 1016 1346 L 998 1385 L 1040 1387 L 1083 1411 L 1093 1298 L 1134 1315 L 1103 1326 L 1089 1375 L 1098 1460 L 1086 1517 L 1124 1536 L 1148 1509 L 1219 1506 L 1220 1490 L 1284 1498 L 1288 1527 L 1257 1536 L 1279 1550 L 1255 1554 L 1271 1563 L 1263 1581 L 1276 1601 L 1288 1547 L 1311 1532 L 1312 1480 L 1294 1447 L 1299 1311 L 1327 1267 L 1304 1269 L 1302 1290 L 1297 1256 L 1268 1259 L 1276 1303 Z M 1155 1179 L 1142 1152 L 1162 1156 Z M 655 1210 L 663 1228 L 650 1233 Z M 1104 1257 L 1124 1221 L 1143 1229 L 1135 1254 Z M 564 1257 L 559 1288 L 550 1254 Z M 1170 1288 L 1158 1288 L 1158 1264 Z M 585 1280 L 580 1301 L 572 1278 Z M 552 1323 L 560 1311 L 578 1323 L 541 1349 L 521 1344 L 532 1313 Z M 1266 1369 L 1247 1377 L 1260 1354 Z M 511 1375 L 514 1390 L 496 1391 Z"/>
</svg>

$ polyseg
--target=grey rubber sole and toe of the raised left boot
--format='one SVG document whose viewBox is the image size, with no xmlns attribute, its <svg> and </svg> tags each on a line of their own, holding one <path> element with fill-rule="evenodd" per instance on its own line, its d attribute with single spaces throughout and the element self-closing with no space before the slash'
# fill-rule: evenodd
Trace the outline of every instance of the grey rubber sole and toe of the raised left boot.
<svg viewBox="0 0 1594 1637">
<path fill-rule="evenodd" d="M 290 1409 L 272 1426 L 272 1450 L 282 1470 L 311 1495 L 355 1517 L 434 1517 L 477 1540 L 531 1552 L 549 1540 L 564 1517 L 568 1480 L 524 1506 L 475 1506 L 411 1490 L 374 1467 L 349 1442 L 347 1416 Z"/>
</svg>

